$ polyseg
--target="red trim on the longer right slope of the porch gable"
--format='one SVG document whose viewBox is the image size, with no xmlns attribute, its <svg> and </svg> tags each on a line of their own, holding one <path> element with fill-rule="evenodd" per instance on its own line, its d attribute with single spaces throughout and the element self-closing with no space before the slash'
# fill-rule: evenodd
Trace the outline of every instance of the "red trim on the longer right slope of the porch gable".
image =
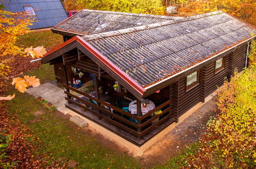
<svg viewBox="0 0 256 169">
<path fill-rule="evenodd" d="M 87 41 L 82 39 L 80 36 L 76 36 L 76 41 L 80 43 L 83 47 L 85 47 L 91 54 L 93 54 L 97 59 L 103 62 L 106 66 L 108 66 L 114 73 L 123 78 L 130 86 L 132 86 L 137 92 L 141 95 L 146 91 L 143 87 L 141 87 L 137 82 L 135 82 L 131 77 L 129 77 L 125 72 L 116 67 L 110 60 L 108 60 L 105 56 L 103 56 L 99 51 L 97 51 L 94 47 L 92 47 Z"/>
</svg>

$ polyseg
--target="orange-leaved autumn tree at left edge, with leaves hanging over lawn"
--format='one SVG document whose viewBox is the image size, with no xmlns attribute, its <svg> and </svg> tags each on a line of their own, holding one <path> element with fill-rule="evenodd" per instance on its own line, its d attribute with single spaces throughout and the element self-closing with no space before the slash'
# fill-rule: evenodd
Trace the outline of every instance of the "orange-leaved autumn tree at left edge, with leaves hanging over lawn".
<svg viewBox="0 0 256 169">
<path fill-rule="evenodd" d="M 10 69 L 8 67 L 8 62 L 13 60 L 16 56 L 29 56 L 34 57 L 43 56 L 46 51 L 43 47 L 37 48 L 27 48 L 23 49 L 15 45 L 18 37 L 29 31 L 28 26 L 32 24 L 32 19 L 27 15 L 26 12 L 12 13 L 3 10 L 4 4 L 0 0 L 0 78 L 12 78 L 18 75 L 8 77 Z M 3 84 L 2 84 L 3 85 Z M 19 92 L 25 92 L 26 87 L 29 86 L 39 86 L 39 79 L 35 76 L 24 76 L 13 78 L 12 85 Z M 0 97 L 0 100 L 10 100 L 14 97 Z"/>
</svg>

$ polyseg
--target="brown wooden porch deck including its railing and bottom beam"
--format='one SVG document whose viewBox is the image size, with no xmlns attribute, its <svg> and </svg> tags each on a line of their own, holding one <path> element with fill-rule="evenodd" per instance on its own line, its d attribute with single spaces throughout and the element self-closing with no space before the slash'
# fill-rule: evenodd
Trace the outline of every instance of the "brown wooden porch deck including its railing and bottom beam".
<svg viewBox="0 0 256 169">
<path fill-rule="evenodd" d="M 65 98 L 68 103 L 65 106 L 102 125 L 104 128 L 127 139 L 137 146 L 141 146 L 154 135 L 174 122 L 171 111 L 172 99 L 169 99 L 144 115 L 133 115 L 109 102 L 97 99 L 92 95 L 85 94 L 75 88 L 64 85 L 67 89 Z M 72 93 L 83 96 L 76 96 Z M 154 112 L 161 110 L 161 114 L 151 117 Z M 153 122 L 155 121 L 155 122 Z"/>
</svg>

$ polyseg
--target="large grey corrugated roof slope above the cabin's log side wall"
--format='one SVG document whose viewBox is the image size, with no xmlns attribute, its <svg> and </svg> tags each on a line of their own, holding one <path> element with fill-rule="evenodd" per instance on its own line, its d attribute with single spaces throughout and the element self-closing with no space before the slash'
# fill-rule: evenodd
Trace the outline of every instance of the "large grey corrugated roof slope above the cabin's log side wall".
<svg viewBox="0 0 256 169">
<path fill-rule="evenodd" d="M 252 26 L 217 11 L 82 38 L 146 88 L 240 43 L 253 32 Z"/>
</svg>

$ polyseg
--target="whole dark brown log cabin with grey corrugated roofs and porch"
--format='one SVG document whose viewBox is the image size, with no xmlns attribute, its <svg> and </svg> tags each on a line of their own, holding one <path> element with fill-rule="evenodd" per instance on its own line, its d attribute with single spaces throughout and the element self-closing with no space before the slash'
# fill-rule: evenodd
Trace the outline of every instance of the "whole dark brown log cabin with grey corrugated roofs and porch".
<svg viewBox="0 0 256 169">
<path fill-rule="evenodd" d="M 120 25 L 115 23 L 119 17 L 109 17 L 112 12 L 104 14 L 110 25 L 105 32 L 95 32 L 96 16 L 90 29 L 90 24 L 72 27 L 73 21 L 55 26 L 53 31 L 66 41 L 49 51 L 42 64 L 55 66 L 69 110 L 137 147 L 205 102 L 234 69 L 242 71 L 248 63 L 248 44 L 255 37 L 253 26 L 222 11 L 130 24 L 131 28 L 120 26 L 136 20 L 128 19 L 128 14 L 118 13 L 127 17 L 119 20 Z M 75 23 L 78 16 L 74 15 Z M 139 20 L 149 16 L 142 17 Z M 85 33 L 87 29 L 94 31 Z M 91 93 L 80 90 L 88 82 L 93 85 Z"/>
</svg>

